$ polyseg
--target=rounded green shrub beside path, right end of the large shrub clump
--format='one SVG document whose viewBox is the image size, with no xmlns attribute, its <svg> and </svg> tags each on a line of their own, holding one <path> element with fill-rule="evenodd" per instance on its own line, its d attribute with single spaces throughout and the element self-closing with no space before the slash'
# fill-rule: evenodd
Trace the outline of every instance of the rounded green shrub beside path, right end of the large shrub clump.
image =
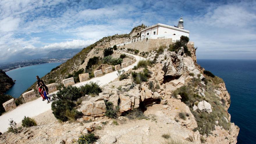
<svg viewBox="0 0 256 144">
<path fill-rule="evenodd" d="M 98 95 L 102 92 L 101 88 L 96 82 L 86 83 L 84 86 L 80 87 L 82 95 L 95 94 Z"/>
</svg>

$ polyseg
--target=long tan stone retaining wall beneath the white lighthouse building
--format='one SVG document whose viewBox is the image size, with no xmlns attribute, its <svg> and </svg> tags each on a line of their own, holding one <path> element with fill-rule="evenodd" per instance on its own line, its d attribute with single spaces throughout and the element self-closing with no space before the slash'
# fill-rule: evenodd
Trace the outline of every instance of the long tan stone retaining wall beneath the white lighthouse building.
<svg viewBox="0 0 256 144">
<path fill-rule="evenodd" d="M 161 45 L 169 45 L 172 44 L 172 38 L 165 38 L 165 39 L 148 39 L 148 40 L 141 40 L 138 42 L 133 42 L 130 44 L 126 44 L 120 46 L 119 48 L 130 48 L 130 49 L 137 49 L 140 52 L 142 51 L 152 51 Z"/>
</svg>

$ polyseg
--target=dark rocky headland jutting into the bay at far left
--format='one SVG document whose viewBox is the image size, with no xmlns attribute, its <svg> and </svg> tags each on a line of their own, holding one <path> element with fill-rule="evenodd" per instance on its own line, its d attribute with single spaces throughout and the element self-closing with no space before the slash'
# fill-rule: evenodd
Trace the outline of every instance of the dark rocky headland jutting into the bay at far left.
<svg viewBox="0 0 256 144">
<path fill-rule="evenodd" d="M 0 70 L 0 94 L 4 94 L 13 85 L 13 79 L 10 78 L 3 70 Z"/>
</svg>

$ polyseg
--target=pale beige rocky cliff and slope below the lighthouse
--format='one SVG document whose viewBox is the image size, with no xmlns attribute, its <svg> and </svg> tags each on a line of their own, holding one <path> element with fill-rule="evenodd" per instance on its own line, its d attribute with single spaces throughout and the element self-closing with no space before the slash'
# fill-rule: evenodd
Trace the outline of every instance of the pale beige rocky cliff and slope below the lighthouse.
<svg viewBox="0 0 256 144">
<path fill-rule="evenodd" d="M 88 58 L 102 55 L 104 47 L 125 39 L 97 42 L 86 58 L 80 55 L 71 60 L 81 58 L 72 69 L 85 67 Z M 89 133 L 97 136 L 97 144 L 237 143 L 239 127 L 230 122 L 225 83 L 197 65 L 195 49 L 189 45 L 190 52 L 184 47 L 151 51 L 144 55 L 147 61 L 124 73 L 125 78 L 102 86 L 98 95 L 79 98 L 76 110 L 82 116 L 76 121 L 60 123 L 47 111 L 35 117 L 38 126 L 23 128 L 18 134 L 4 133 L 0 143 L 76 143 L 81 134 Z M 108 102 L 115 109 L 109 109 Z M 109 118 L 113 111 L 117 116 Z"/>
</svg>

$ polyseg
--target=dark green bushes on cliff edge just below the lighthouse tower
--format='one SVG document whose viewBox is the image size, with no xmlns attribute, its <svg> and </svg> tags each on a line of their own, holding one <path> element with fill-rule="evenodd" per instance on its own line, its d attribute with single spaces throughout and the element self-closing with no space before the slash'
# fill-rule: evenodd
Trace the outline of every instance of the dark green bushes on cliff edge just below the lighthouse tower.
<svg viewBox="0 0 256 144">
<path fill-rule="evenodd" d="M 189 42 L 189 38 L 186 36 L 181 36 L 180 40 L 177 40 L 175 43 L 169 45 L 169 51 L 175 51 L 176 53 L 180 50 L 181 47 L 184 48 L 184 53 L 187 56 L 191 56 L 191 52 L 189 51 L 188 47 L 186 46 Z"/>
</svg>

